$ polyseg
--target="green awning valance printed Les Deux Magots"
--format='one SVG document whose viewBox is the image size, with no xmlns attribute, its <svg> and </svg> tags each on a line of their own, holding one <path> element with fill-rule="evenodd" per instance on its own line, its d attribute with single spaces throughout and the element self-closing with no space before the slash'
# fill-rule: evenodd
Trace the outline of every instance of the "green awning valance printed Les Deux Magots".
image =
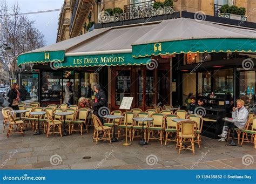
<svg viewBox="0 0 256 184">
<path fill-rule="evenodd" d="M 133 58 L 132 53 L 98 54 L 65 57 L 62 67 L 117 66 L 150 64 L 150 58 Z"/>
</svg>

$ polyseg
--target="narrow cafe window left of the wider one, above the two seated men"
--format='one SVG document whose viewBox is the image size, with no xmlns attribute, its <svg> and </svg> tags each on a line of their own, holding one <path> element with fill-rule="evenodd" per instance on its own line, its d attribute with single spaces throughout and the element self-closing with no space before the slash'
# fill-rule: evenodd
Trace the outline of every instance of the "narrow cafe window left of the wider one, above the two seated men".
<svg viewBox="0 0 256 184">
<path fill-rule="evenodd" d="M 198 96 L 211 93 L 211 72 L 198 72 Z"/>
</svg>

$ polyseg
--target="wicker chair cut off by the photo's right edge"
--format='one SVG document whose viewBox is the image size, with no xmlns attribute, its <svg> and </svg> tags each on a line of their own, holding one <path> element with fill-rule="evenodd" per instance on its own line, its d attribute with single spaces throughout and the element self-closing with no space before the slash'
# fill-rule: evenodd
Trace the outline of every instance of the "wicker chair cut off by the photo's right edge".
<svg viewBox="0 0 256 184">
<path fill-rule="evenodd" d="M 256 149 L 256 117 L 252 117 L 247 121 L 244 130 L 241 130 L 242 142 L 251 142 L 254 144 L 254 149 Z M 251 138 L 251 139 L 250 139 Z"/>
</svg>

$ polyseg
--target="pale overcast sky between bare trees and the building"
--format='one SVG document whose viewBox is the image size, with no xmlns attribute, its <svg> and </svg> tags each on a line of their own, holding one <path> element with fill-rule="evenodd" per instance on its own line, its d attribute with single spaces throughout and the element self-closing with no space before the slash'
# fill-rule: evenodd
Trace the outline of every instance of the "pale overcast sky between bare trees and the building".
<svg viewBox="0 0 256 184">
<path fill-rule="evenodd" d="M 1 1 L 1 0 L 0 0 Z M 9 8 L 18 3 L 22 13 L 44 11 L 62 8 L 64 0 L 6 0 Z M 46 45 L 56 43 L 58 18 L 60 11 L 26 15 L 35 21 L 35 27 L 40 30 L 46 40 Z"/>
</svg>

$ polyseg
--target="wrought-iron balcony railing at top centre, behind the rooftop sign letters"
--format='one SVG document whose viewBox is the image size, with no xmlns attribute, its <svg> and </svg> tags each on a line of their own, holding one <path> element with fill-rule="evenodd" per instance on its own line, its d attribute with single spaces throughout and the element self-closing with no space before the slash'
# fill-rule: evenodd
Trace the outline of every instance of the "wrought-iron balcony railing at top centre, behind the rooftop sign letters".
<svg viewBox="0 0 256 184">
<path fill-rule="evenodd" d="M 134 3 L 134 4 L 128 4 L 124 6 L 124 12 L 136 12 L 138 10 L 152 10 L 153 9 L 154 1 L 146 1 L 142 3 Z"/>
</svg>

